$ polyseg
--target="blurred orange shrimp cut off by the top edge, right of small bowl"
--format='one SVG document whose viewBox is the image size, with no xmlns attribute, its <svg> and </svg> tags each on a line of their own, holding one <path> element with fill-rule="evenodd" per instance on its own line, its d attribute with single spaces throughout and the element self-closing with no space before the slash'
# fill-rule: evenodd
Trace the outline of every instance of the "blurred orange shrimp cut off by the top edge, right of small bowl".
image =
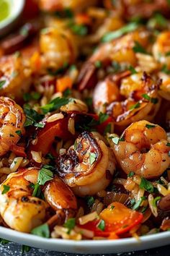
<svg viewBox="0 0 170 256">
<path fill-rule="evenodd" d="M 95 5 L 97 0 L 40 0 L 40 9 L 46 12 L 62 11 L 63 9 L 73 9 L 73 11 L 81 11 L 82 9 Z"/>
</svg>

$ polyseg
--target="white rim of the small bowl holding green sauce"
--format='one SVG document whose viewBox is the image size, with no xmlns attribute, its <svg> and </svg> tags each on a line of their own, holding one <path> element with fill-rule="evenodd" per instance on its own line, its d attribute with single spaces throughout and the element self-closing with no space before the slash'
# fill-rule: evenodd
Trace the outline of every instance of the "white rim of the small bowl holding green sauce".
<svg viewBox="0 0 170 256">
<path fill-rule="evenodd" d="M 5 35 L 12 30 L 24 9 L 25 0 L 8 0 L 8 2 L 10 6 L 10 14 L 5 20 L 0 22 L 0 36 Z"/>
</svg>

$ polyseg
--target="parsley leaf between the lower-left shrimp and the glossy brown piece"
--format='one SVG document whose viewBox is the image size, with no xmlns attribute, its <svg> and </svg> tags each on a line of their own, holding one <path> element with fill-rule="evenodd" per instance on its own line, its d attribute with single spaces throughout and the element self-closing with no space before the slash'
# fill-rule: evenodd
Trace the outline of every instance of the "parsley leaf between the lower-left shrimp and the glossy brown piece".
<svg viewBox="0 0 170 256">
<path fill-rule="evenodd" d="M 37 176 L 37 183 L 39 185 L 44 185 L 45 182 L 48 182 L 53 179 L 53 171 L 50 170 L 50 166 L 43 166 Z"/>
</svg>

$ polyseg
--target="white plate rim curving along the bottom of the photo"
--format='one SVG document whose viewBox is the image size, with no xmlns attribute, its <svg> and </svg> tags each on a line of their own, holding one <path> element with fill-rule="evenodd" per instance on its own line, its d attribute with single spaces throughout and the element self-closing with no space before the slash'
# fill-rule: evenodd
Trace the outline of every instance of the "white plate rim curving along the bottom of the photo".
<svg viewBox="0 0 170 256">
<path fill-rule="evenodd" d="M 74 253 L 119 253 L 150 249 L 170 244 L 170 231 L 141 236 L 140 241 L 134 238 L 117 240 L 84 240 L 45 239 L 32 234 L 24 234 L 12 229 L 0 227 L 0 237 L 19 244 L 29 245 L 58 252 Z"/>
</svg>

